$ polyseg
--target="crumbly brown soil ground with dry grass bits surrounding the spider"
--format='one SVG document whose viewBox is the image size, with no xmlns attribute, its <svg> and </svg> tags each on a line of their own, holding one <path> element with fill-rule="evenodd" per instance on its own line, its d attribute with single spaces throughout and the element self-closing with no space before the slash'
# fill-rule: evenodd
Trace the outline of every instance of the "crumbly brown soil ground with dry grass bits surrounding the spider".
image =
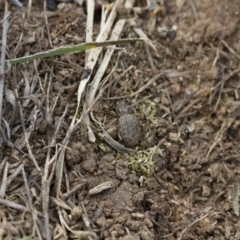
<svg viewBox="0 0 240 240">
<path fill-rule="evenodd" d="M 134 105 L 140 120 L 142 141 L 138 149 L 145 150 L 145 155 L 134 158 L 117 153 L 101 138 L 101 129 L 94 123 L 97 140 L 90 143 L 81 125 L 68 145 L 62 194 L 58 193 L 58 198 L 56 176 L 49 180 L 47 207 L 52 239 L 240 239 L 239 1 L 159 2 L 164 5 L 155 25 L 151 11 L 139 13 L 136 18 L 156 51 L 147 47 L 148 55 L 142 42 L 119 45 L 105 74 L 117 63 L 110 78 L 113 84 L 93 109 L 96 119 L 104 122 L 106 130 L 119 140 L 116 99 L 107 98 L 130 95 L 162 72 L 148 88 L 126 99 Z M 12 15 L 7 58 L 50 49 L 49 38 L 52 47 L 84 42 L 84 8 L 61 4 L 48 14 L 47 25 L 42 5 L 33 4 L 27 19 L 28 3 L 23 4 L 22 9 L 9 6 Z M 135 5 L 144 4 L 139 0 Z M 0 7 L 2 19 L 4 5 Z M 96 9 L 95 14 L 97 36 L 100 11 Z M 117 18 L 130 19 L 133 15 L 122 9 Z M 121 38 L 127 37 L 137 37 L 129 23 L 121 34 Z M 152 58 L 152 65 L 147 56 Z M 57 144 L 51 146 L 50 157 L 55 160 L 50 173 L 54 173 L 54 154 L 61 147 L 76 108 L 76 86 L 84 62 L 85 53 L 63 55 L 35 64 L 18 64 L 5 74 L 5 89 L 15 89 L 19 98 L 32 96 L 31 100 L 19 99 L 18 104 L 41 172 L 49 157 L 45 113 L 51 115 L 55 129 L 69 104 Z M 133 68 L 115 83 L 114 79 L 129 66 Z M 46 182 L 29 160 L 19 105 L 14 110 L 6 96 L 3 117 L 11 129 L 11 142 L 21 151 L 6 146 L 9 139 L 1 146 L 0 238 L 45 239 L 41 212 L 46 207 L 42 204 L 47 197 L 43 194 Z M 155 154 L 151 155 L 151 151 Z M 149 155 L 146 164 L 137 162 Z M 21 171 L 12 175 L 19 166 Z M 89 194 L 89 190 L 105 182 L 110 182 L 110 189 Z M 74 218 L 73 212 L 78 217 Z M 69 231 L 63 219 L 72 230 L 82 232 Z"/>
</svg>

